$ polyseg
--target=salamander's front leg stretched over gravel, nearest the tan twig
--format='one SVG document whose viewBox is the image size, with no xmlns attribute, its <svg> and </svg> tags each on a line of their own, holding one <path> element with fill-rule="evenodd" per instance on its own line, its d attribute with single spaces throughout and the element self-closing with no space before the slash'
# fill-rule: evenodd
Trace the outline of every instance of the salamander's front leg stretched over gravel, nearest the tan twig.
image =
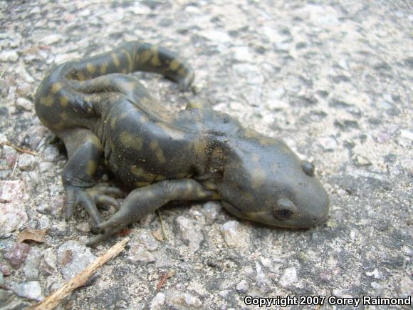
<svg viewBox="0 0 413 310">
<path fill-rule="evenodd" d="M 126 197 L 120 210 L 110 219 L 97 225 L 97 229 L 105 230 L 88 242 L 93 246 L 108 239 L 127 224 L 137 222 L 150 212 L 154 212 L 167 202 L 177 200 L 213 200 L 216 193 L 206 190 L 204 186 L 192 179 L 166 180 L 137 188 Z"/>
</svg>

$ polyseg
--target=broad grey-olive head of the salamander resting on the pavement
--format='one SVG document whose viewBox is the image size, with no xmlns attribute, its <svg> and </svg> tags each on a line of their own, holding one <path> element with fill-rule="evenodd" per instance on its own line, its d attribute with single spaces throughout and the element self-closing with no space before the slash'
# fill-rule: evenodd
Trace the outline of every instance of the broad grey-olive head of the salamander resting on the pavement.
<svg viewBox="0 0 413 310">
<path fill-rule="evenodd" d="M 218 184 L 231 214 L 276 227 L 309 228 L 325 222 L 330 200 L 314 166 L 273 138 L 233 140 Z"/>
</svg>

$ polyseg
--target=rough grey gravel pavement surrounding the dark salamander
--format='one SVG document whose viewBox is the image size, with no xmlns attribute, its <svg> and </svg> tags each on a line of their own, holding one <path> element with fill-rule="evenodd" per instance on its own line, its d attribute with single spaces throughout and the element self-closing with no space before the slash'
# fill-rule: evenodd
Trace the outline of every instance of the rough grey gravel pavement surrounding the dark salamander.
<svg viewBox="0 0 413 310">
<path fill-rule="evenodd" d="M 186 58 L 216 110 L 313 161 L 330 219 L 271 229 L 216 202 L 168 207 L 134 224 L 130 247 L 59 309 L 256 309 L 245 296 L 305 295 L 327 296 L 308 308 L 331 309 L 350 297 L 408 299 L 412 8 L 402 0 L 0 1 L 0 309 L 43 299 L 116 242 L 85 247 L 85 212 L 61 218 L 66 157 L 33 99 L 54 65 L 136 39 Z M 136 76 L 170 110 L 192 98 L 160 76 Z M 18 243 L 24 229 L 47 229 L 46 237 Z"/>
</svg>

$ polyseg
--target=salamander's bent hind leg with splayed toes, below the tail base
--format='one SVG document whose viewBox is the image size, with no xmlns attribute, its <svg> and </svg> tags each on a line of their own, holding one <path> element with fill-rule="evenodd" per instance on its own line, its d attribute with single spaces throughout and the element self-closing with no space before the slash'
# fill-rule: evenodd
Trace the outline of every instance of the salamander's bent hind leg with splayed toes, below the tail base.
<svg viewBox="0 0 413 310">
<path fill-rule="evenodd" d="M 90 215 L 93 225 L 100 224 L 102 220 L 98 207 L 113 205 L 118 209 L 113 197 L 122 196 L 122 192 L 115 187 L 95 183 L 95 172 L 103 155 L 100 140 L 83 128 L 66 131 L 61 136 L 69 157 L 62 176 L 66 192 L 66 220 L 72 217 L 75 207 L 81 205 Z"/>
</svg>

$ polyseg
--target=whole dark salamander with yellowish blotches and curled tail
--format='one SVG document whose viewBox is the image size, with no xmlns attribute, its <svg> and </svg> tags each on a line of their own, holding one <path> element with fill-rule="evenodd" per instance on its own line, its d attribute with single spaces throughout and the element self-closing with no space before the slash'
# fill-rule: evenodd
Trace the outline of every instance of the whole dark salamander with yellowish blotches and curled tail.
<svg viewBox="0 0 413 310">
<path fill-rule="evenodd" d="M 127 75 L 134 71 L 160 73 L 182 91 L 194 80 L 171 51 L 133 41 L 53 68 L 36 93 L 38 118 L 68 150 L 66 219 L 81 205 L 99 232 L 89 245 L 171 201 L 221 200 L 236 217 L 276 227 L 325 221 L 329 198 L 313 164 L 209 105 L 170 113 Z M 101 162 L 132 190 L 121 206 L 120 190 L 95 183 Z M 105 205 L 117 212 L 103 222 Z"/>
</svg>

